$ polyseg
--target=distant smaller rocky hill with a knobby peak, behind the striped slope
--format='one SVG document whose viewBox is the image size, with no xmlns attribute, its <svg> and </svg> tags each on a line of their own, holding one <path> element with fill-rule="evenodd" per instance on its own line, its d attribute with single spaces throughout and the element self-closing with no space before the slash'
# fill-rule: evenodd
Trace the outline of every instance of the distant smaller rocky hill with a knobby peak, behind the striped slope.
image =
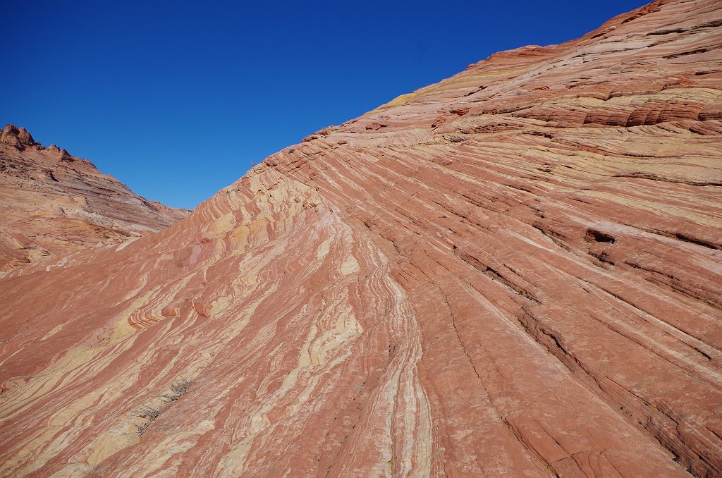
<svg viewBox="0 0 722 478">
<path fill-rule="evenodd" d="M 25 128 L 0 134 L 0 274 L 48 256 L 117 244 L 187 217 L 147 201 L 95 165 Z"/>
</svg>

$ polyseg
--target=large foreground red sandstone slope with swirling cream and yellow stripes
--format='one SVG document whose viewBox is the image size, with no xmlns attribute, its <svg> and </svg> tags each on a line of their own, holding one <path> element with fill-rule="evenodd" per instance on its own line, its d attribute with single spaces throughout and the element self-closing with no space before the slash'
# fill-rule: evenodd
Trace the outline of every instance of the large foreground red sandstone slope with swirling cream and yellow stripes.
<svg viewBox="0 0 722 478">
<path fill-rule="evenodd" d="M 10 271 L 3 473 L 719 476 L 721 7 L 499 53 Z"/>
</svg>

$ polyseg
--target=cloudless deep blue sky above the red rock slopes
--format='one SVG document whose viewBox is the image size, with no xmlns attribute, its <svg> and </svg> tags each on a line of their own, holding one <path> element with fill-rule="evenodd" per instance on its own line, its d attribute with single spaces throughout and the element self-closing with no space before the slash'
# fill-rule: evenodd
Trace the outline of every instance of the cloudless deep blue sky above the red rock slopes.
<svg viewBox="0 0 722 478">
<path fill-rule="evenodd" d="M 192 208 L 313 131 L 645 3 L 2 1 L 0 121 Z"/>
</svg>

